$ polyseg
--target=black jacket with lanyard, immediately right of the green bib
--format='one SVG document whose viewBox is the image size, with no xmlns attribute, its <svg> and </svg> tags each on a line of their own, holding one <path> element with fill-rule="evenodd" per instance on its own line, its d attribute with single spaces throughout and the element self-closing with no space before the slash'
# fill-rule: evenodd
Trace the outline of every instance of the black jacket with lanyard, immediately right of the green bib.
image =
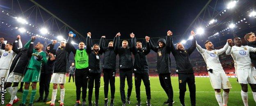
<svg viewBox="0 0 256 106">
<path fill-rule="evenodd" d="M 89 39 L 89 40 L 88 40 Z M 87 37 L 87 49 L 91 49 L 91 38 Z M 101 45 L 102 43 L 100 43 Z M 94 50 L 88 50 L 89 56 L 89 72 L 90 73 L 101 73 L 101 55 L 103 51 L 102 49 L 98 50 L 96 53 Z M 98 59 L 96 58 L 98 56 Z"/>
</svg>

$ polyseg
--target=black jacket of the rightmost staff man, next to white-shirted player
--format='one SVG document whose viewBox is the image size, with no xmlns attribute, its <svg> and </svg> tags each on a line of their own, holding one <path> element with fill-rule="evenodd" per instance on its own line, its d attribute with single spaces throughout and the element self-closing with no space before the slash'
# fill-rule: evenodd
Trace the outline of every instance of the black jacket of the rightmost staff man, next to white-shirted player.
<svg viewBox="0 0 256 106">
<path fill-rule="evenodd" d="M 194 73 L 193 66 L 190 63 L 189 56 L 196 49 L 196 38 L 193 37 L 192 44 L 189 49 L 185 51 L 180 51 L 175 49 L 171 38 L 171 53 L 174 55 L 176 61 L 176 73 Z"/>
</svg>

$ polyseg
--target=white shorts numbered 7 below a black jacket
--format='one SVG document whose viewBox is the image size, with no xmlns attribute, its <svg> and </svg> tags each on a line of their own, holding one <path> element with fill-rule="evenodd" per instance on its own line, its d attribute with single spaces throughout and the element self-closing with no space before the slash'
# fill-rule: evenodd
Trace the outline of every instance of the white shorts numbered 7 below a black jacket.
<svg viewBox="0 0 256 106">
<path fill-rule="evenodd" d="M 53 73 L 50 83 L 53 84 L 65 84 L 66 73 Z"/>
</svg>

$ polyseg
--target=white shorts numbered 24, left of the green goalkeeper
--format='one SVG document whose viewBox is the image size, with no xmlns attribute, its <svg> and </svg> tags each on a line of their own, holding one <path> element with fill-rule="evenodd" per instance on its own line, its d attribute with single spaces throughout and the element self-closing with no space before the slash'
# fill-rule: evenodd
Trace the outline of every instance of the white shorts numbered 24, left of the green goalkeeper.
<svg viewBox="0 0 256 106">
<path fill-rule="evenodd" d="M 11 72 L 10 75 L 7 78 L 6 82 L 21 82 L 23 79 L 23 74 L 21 73 L 15 73 L 15 72 Z"/>
</svg>

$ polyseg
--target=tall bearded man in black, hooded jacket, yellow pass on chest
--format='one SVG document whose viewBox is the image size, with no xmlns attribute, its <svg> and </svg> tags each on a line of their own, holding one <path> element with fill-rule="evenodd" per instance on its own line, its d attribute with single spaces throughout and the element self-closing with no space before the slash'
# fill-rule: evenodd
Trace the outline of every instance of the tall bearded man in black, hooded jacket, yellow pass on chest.
<svg viewBox="0 0 256 106">
<path fill-rule="evenodd" d="M 169 31 L 168 31 L 169 32 Z M 164 104 L 169 104 L 172 106 L 174 103 L 173 101 L 173 89 L 171 86 L 171 38 L 170 33 L 167 33 L 166 41 L 164 38 L 158 40 L 158 47 L 154 46 L 150 41 L 151 49 L 157 53 L 157 71 L 159 74 L 159 81 L 162 88 L 165 90 L 167 94 L 168 100 L 164 102 Z"/>
</svg>

